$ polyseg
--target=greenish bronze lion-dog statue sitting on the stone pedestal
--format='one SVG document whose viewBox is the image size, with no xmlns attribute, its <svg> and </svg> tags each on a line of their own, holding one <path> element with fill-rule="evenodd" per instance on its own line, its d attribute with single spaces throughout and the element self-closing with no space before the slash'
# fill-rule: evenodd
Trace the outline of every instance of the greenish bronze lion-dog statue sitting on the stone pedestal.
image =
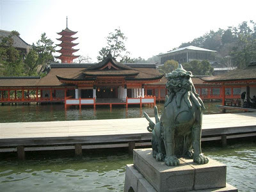
<svg viewBox="0 0 256 192">
<path fill-rule="evenodd" d="M 179 157 L 188 156 L 198 164 L 206 164 L 208 158 L 202 154 L 202 99 L 196 93 L 191 80 L 192 73 L 182 65 L 167 74 L 168 95 L 164 110 L 159 119 L 157 107 L 154 107 L 156 124 L 143 112 L 152 132 L 152 154 L 156 161 L 164 161 L 168 166 L 179 165 Z"/>
</svg>

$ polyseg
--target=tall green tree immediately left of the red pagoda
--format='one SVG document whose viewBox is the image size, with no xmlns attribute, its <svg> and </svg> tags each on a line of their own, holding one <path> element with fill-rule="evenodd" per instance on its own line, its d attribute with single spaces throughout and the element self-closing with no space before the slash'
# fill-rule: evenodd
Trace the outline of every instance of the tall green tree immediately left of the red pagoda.
<svg viewBox="0 0 256 192">
<path fill-rule="evenodd" d="M 45 33 L 42 33 L 41 38 L 36 42 L 36 45 L 33 44 L 33 49 L 38 54 L 38 60 L 36 61 L 36 68 L 40 67 L 38 74 L 44 70 L 49 62 L 54 61 L 52 53 L 55 52 L 55 48 L 56 46 L 54 46 L 54 42 L 52 42 L 50 38 L 47 38 Z"/>
</svg>

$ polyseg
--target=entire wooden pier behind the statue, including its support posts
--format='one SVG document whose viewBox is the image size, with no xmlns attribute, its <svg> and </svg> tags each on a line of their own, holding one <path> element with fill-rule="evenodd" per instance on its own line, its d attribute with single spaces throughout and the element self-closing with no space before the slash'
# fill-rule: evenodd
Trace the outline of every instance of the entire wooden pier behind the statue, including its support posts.
<svg viewBox="0 0 256 192">
<path fill-rule="evenodd" d="M 152 118 L 153 120 L 154 118 Z M 151 145 L 145 118 L 0 124 L 0 152 L 75 150 Z M 256 113 L 204 115 L 202 141 L 256 136 Z"/>
</svg>

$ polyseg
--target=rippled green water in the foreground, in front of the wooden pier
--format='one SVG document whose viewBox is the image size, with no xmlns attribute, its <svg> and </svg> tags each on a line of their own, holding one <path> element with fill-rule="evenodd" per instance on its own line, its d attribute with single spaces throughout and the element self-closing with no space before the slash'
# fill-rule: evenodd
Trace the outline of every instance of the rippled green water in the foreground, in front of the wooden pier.
<svg viewBox="0 0 256 192">
<path fill-rule="evenodd" d="M 203 143 L 212 159 L 227 164 L 227 182 L 239 191 L 256 191 L 256 142 L 238 141 L 227 148 Z M 218 146 L 218 145 L 217 145 Z M 0 160 L 0 191 L 123 191 L 127 149 L 84 151 L 81 159 L 67 152 L 31 152 L 27 160 L 15 154 Z"/>
</svg>

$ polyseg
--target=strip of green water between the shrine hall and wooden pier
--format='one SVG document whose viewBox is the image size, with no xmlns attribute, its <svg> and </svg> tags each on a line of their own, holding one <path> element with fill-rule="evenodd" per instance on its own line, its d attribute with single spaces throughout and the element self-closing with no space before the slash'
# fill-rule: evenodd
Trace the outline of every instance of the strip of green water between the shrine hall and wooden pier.
<svg viewBox="0 0 256 192">
<path fill-rule="evenodd" d="M 205 102 L 204 114 L 220 113 L 217 107 L 220 102 Z M 83 106 L 84 107 L 84 106 Z M 159 114 L 163 111 L 163 104 L 157 104 Z M 84 107 L 81 110 L 74 106 L 65 110 L 63 105 L 47 106 L 0 106 L 0 123 L 8 122 L 45 122 L 45 121 L 65 121 L 65 120 L 93 120 L 109 118 L 138 118 L 143 117 L 143 111 L 149 116 L 154 116 L 154 109 L 143 106 L 129 106 L 128 110 L 123 106 L 98 107 L 93 110 L 92 107 Z M 228 112 L 228 111 L 227 111 Z"/>
</svg>

